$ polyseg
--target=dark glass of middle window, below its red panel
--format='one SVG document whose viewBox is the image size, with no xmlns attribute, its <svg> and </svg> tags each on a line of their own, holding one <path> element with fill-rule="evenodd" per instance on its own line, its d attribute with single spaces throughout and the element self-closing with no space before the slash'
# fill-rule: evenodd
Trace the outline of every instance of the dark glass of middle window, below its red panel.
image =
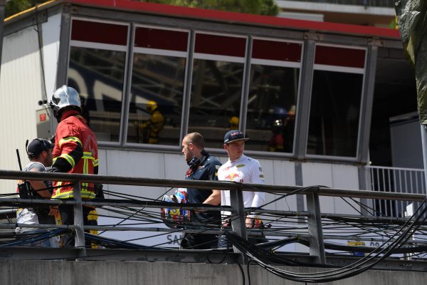
<svg viewBox="0 0 427 285">
<path fill-rule="evenodd" d="M 194 60 L 189 133 L 201 133 L 206 147 L 222 148 L 233 117 L 240 116 L 243 66 L 243 63 Z"/>
</svg>

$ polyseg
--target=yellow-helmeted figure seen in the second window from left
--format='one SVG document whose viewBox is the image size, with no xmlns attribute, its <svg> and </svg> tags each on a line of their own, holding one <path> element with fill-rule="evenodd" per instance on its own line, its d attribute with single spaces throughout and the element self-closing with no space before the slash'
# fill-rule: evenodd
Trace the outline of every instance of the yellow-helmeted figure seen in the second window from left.
<svg viewBox="0 0 427 285">
<path fill-rule="evenodd" d="M 144 131 L 144 143 L 157 144 L 159 143 L 159 133 L 163 130 L 164 117 L 159 111 L 157 103 L 153 100 L 147 102 L 147 112 L 150 114 L 149 120 L 139 123 L 135 122 L 135 127 Z M 147 140 L 148 137 L 148 140 Z"/>
</svg>

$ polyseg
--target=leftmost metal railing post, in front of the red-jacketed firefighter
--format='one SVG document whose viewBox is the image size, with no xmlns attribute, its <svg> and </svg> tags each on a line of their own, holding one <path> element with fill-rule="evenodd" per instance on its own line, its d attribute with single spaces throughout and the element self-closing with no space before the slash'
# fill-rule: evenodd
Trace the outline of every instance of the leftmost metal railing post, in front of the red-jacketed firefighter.
<svg viewBox="0 0 427 285">
<path fill-rule="evenodd" d="M 83 206 L 82 206 L 82 193 L 80 190 L 80 181 L 75 182 L 73 191 L 75 205 L 74 205 L 74 226 L 75 226 L 75 239 L 74 246 L 78 248 L 78 257 L 86 256 L 85 249 L 85 230 L 83 225 Z"/>
</svg>

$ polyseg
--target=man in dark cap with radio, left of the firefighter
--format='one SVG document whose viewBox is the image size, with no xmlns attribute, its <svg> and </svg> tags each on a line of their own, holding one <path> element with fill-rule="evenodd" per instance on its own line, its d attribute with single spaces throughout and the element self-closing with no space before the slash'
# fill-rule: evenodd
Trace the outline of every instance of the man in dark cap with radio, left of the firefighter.
<svg viewBox="0 0 427 285">
<path fill-rule="evenodd" d="M 28 144 L 28 140 L 27 140 Z M 53 145 L 48 140 L 43 138 L 36 138 L 28 147 L 26 146 L 26 152 L 30 163 L 23 168 L 23 171 L 31 172 L 44 172 L 46 167 L 52 165 L 52 150 Z M 39 181 L 39 180 L 27 180 L 19 181 L 18 192 L 23 198 L 33 199 L 50 199 L 52 190 L 52 182 L 50 181 Z M 55 217 L 49 214 L 50 208 L 48 206 L 40 205 L 34 207 L 28 207 L 25 209 L 18 209 L 16 212 L 16 223 L 17 224 L 55 224 Z M 41 232 L 41 231 L 39 231 Z M 37 230 L 28 228 L 16 228 L 18 234 L 29 234 L 37 233 Z M 42 242 L 31 242 L 30 244 L 39 247 L 58 247 L 58 242 L 54 239 L 47 239 Z"/>
</svg>

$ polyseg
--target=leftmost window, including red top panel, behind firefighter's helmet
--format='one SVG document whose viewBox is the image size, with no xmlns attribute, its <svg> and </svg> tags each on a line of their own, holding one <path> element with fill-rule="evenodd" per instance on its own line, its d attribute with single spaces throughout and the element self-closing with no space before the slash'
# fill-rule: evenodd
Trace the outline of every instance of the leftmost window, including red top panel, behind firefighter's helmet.
<svg viewBox="0 0 427 285">
<path fill-rule="evenodd" d="M 82 98 L 97 140 L 120 140 L 127 25 L 73 19 L 68 86 Z M 113 36 L 114 35 L 114 36 Z"/>
</svg>

